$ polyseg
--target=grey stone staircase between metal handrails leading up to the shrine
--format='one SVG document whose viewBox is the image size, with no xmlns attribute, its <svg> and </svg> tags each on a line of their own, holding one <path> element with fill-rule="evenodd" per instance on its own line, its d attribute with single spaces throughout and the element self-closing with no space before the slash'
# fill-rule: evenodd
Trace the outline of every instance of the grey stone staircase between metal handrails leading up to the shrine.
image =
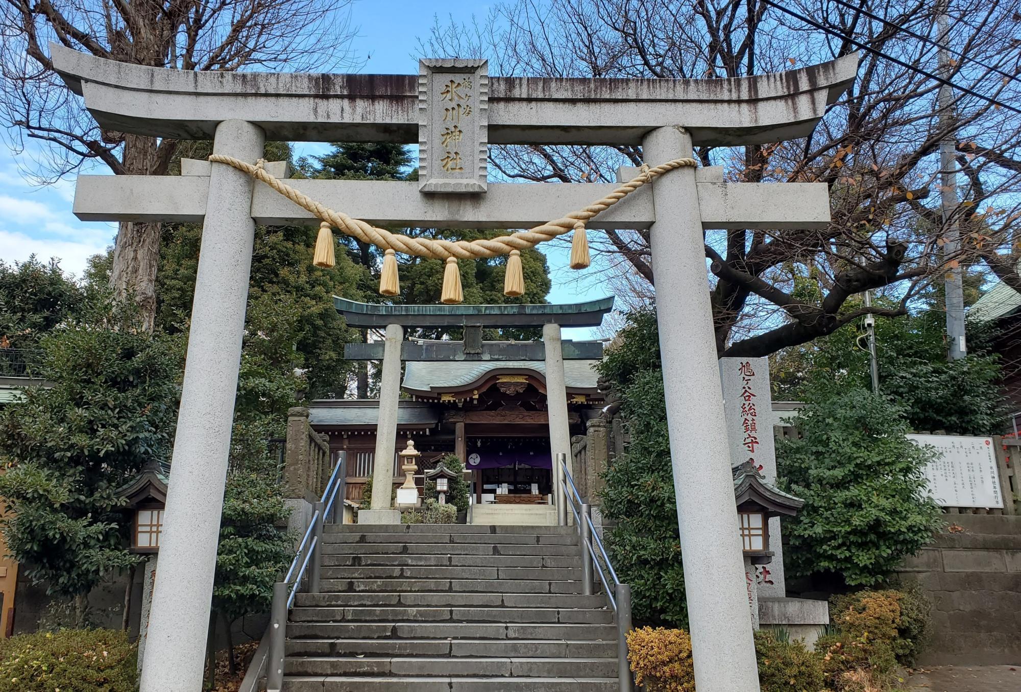
<svg viewBox="0 0 1021 692">
<path fill-rule="evenodd" d="M 337 526 L 287 626 L 286 692 L 617 692 L 569 527 Z"/>
</svg>

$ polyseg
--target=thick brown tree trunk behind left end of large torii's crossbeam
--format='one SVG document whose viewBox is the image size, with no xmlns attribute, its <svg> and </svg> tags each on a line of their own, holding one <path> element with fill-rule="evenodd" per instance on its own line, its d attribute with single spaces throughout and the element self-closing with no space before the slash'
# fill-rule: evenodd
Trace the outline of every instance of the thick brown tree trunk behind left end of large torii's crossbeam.
<svg viewBox="0 0 1021 692">
<path fill-rule="evenodd" d="M 125 135 L 124 169 L 129 176 L 165 172 L 164 152 L 152 137 Z M 138 306 L 139 328 L 152 331 L 156 318 L 156 265 L 159 259 L 158 223 L 121 221 L 113 246 L 110 288 L 118 302 Z"/>
</svg>

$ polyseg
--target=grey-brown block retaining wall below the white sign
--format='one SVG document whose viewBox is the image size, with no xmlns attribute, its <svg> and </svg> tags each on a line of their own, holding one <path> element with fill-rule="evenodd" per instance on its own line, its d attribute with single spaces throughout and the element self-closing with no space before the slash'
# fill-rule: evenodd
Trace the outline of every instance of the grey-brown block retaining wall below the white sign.
<svg viewBox="0 0 1021 692">
<path fill-rule="evenodd" d="M 932 602 L 923 664 L 1021 663 L 1021 516 L 947 514 L 901 576 Z"/>
</svg>

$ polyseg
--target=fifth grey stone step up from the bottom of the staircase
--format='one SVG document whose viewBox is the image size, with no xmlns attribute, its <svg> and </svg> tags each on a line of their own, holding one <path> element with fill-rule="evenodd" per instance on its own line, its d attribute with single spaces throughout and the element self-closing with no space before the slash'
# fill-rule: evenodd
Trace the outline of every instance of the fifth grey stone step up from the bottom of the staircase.
<svg viewBox="0 0 1021 692">
<path fill-rule="evenodd" d="M 601 608 L 508 608 L 508 607 L 302 607 L 291 611 L 292 623 L 341 622 L 452 622 L 452 623 L 570 623 L 610 625 L 612 610 Z"/>
</svg>

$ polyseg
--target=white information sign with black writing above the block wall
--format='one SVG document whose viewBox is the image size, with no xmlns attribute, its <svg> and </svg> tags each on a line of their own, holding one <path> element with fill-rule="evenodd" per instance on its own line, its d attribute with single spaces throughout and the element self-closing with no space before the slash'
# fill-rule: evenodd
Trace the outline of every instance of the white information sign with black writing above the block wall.
<svg viewBox="0 0 1021 692">
<path fill-rule="evenodd" d="M 939 452 L 925 467 L 929 494 L 942 507 L 1003 507 L 992 439 L 959 435 L 909 435 Z"/>
</svg>

